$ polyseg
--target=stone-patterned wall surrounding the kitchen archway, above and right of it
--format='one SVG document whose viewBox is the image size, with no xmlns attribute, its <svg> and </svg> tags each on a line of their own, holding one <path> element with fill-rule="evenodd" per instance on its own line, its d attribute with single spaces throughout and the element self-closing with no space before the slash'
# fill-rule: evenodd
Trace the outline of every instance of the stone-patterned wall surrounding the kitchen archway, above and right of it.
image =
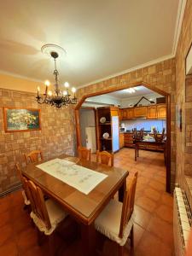
<svg viewBox="0 0 192 256">
<path fill-rule="evenodd" d="M 171 181 L 172 187 L 175 183 L 175 160 L 176 160 L 176 143 L 175 143 L 175 59 L 162 61 L 149 67 L 143 67 L 137 71 L 131 73 L 125 73 L 114 77 L 113 79 L 107 79 L 100 83 L 90 84 L 84 88 L 78 90 L 79 99 L 93 92 L 99 92 L 107 90 L 109 88 L 115 88 L 118 90 L 120 86 L 146 82 L 150 84 L 152 88 L 160 89 L 171 95 Z"/>
</svg>

